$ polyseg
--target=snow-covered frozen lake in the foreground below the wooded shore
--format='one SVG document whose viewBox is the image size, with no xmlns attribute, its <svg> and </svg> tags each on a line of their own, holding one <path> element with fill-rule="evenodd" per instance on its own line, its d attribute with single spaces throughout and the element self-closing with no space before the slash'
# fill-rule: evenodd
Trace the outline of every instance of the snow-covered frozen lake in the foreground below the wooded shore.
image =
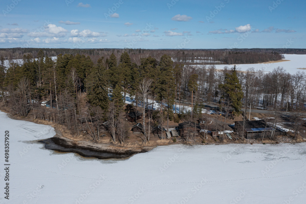
<svg viewBox="0 0 306 204">
<path fill-rule="evenodd" d="M 0 112 L 0 161 L 9 130 L 10 199 L 0 203 L 305 203 L 306 145 L 171 145 L 126 160 L 54 153 L 32 140 L 50 126 Z M 2 166 L 3 167 L 3 166 Z M 4 169 L 4 168 L 1 168 Z"/>
</svg>

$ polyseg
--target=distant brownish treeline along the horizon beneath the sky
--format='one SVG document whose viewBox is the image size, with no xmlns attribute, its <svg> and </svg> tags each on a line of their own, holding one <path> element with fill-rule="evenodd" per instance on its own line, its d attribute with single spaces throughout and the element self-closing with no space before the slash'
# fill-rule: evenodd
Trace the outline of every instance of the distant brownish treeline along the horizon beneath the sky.
<svg viewBox="0 0 306 204">
<path fill-rule="evenodd" d="M 282 59 L 282 54 L 306 54 L 306 49 L 66 49 L 66 48 L 1 48 L 2 59 L 22 59 L 31 54 L 37 58 L 39 50 L 47 56 L 85 55 L 96 64 L 100 57 L 109 58 L 112 53 L 119 58 L 125 51 L 130 55 L 133 63 L 140 65 L 141 58 L 148 56 L 159 60 L 162 55 L 169 55 L 174 62 L 185 64 L 252 64 Z"/>
</svg>

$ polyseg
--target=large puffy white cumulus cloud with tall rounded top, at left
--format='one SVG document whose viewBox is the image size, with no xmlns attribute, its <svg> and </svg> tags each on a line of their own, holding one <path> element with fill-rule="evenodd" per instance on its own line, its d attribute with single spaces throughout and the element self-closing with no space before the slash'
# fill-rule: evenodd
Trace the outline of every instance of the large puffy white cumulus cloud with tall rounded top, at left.
<svg viewBox="0 0 306 204">
<path fill-rule="evenodd" d="M 43 32 L 30 32 L 28 36 L 30 37 L 65 37 L 66 36 L 65 28 L 56 26 L 54 24 L 49 24 Z"/>
</svg>

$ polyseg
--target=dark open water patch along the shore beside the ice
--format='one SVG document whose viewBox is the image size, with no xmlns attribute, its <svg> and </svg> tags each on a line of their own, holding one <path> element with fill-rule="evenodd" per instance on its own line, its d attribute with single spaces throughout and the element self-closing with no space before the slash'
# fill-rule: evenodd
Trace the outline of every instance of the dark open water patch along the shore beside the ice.
<svg viewBox="0 0 306 204">
<path fill-rule="evenodd" d="M 77 153 L 83 157 L 95 157 L 98 159 L 123 159 L 127 157 L 131 157 L 135 153 L 125 153 L 125 154 L 114 154 L 114 153 L 108 153 L 104 152 L 103 150 L 97 150 L 97 151 L 92 151 L 89 149 L 86 149 L 86 147 L 64 147 L 62 145 L 58 145 L 58 139 L 57 138 L 49 138 L 45 140 L 38 141 L 43 144 L 45 144 L 46 149 L 54 150 L 54 151 L 59 151 L 59 152 L 69 152 L 69 153 Z"/>
</svg>

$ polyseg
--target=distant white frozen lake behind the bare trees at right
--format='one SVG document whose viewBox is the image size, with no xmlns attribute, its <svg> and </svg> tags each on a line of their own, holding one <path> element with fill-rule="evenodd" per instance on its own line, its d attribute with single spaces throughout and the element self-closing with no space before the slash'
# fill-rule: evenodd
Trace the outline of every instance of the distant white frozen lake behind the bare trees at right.
<svg viewBox="0 0 306 204">
<path fill-rule="evenodd" d="M 277 63 L 270 63 L 270 64 L 237 64 L 237 68 L 240 68 L 241 71 L 246 71 L 248 68 L 254 67 L 256 70 L 264 69 L 265 72 L 272 72 L 274 68 L 278 66 L 284 67 L 284 69 L 289 72 L 290 74 L 295 74 L 298 71 L 306 71 L 301 70 L 298 68 L 306 68 L 306 55 L 289 55 L 285 54 L 285 60 L 290 60 L 286 62 L 277 62 Z M 228 66 L 229 68 L 232 65 L 215 65 L 217 69 L 223 69 L 224 66 Z"/>
</svg>

